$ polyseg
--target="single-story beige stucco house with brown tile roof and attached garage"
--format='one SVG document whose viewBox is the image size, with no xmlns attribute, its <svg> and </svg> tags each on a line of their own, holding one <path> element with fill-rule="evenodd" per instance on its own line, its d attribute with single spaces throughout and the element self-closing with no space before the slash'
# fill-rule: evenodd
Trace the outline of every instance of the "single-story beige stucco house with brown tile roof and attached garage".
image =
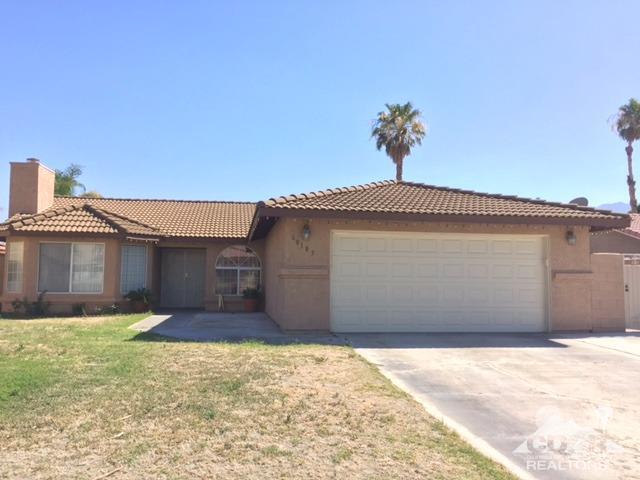
<svg viewBox="0 0 640 480">
<path fill-rule="evenodd" d="M 242 308 L 260 286 L 288 330 L 544 332 L 624 328 L 622 261 L 590 234 L 629 216 L 381 181 L 258 203 L 54 196 L 11 164 L 3 311 L 46 291 L 53 311 L 121 302 Z M 620 273 L 619 278 L 617 273 Z"/>
</svg>

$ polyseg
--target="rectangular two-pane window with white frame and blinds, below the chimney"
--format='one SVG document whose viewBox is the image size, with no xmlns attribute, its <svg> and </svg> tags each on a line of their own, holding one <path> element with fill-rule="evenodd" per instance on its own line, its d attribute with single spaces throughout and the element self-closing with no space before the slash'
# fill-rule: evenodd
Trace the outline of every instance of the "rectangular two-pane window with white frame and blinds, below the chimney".
<svg viewBox="0 0 640 480">
<path fill-rule="evenodd" d="M 102 293 L 103 243 L 41 243 L 38 291 Z"/>
</svg>

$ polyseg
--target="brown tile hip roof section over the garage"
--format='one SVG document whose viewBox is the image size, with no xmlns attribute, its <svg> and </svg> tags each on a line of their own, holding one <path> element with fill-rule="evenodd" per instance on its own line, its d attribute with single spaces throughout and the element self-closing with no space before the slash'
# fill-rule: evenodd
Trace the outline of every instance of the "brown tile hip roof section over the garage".
<svg viewBox="0 0 640 480">
<path fill-rule="evenodd" d="M 628 217 L 606 210 L 437 187 L 413 182 L 382 182 L 289 195 L 260 202 L 270 209 L 615 220 Z"/>
</svg>

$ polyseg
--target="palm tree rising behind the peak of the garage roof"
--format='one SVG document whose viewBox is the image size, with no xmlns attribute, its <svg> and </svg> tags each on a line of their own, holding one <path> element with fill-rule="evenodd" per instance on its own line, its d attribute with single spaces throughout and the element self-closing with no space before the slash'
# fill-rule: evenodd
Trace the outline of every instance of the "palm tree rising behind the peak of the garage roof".
<svg viewBox="0 0 640 480">
<path fill-rule="evenodd" d="M 402 167 L 411 148 L 421 145 L 427 133 L 422 123 L 421 112 L 413 108 L 411 102 L 385 104 L 387 110 L 378 113 L 374 120 L 371 136 L 376 138 L 376 148 L 384 147 L 387 155 L 396 164 L 396 181 L 402 181 Z"/>
</svg>

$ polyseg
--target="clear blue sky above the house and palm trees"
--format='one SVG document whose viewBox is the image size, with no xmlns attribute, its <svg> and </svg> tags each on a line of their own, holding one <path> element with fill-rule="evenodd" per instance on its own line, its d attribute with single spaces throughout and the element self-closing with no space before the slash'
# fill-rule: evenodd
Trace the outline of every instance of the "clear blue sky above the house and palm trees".
<svg viewBox="0 0 640 480">
<path fill-rule="evenodd" d="M 429 127 L 407 180 L 626 200 L 608 119 L 640 96 L 639 17 L 637 0 L 3 1 L 0 205 L 26 157 L 115 197 L 392 178 L 370 124 L 407 100 Z"/>
</svg>

